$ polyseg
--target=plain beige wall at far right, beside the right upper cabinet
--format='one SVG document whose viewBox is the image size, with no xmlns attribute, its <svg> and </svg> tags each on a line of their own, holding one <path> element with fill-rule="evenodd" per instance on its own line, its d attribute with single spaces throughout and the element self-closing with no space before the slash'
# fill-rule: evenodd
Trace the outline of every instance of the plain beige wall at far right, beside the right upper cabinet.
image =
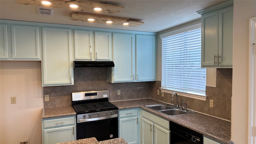
<svg viewBox="0 0 256 144">
<path fill-rule="evenodd" d="M 234 0 L 231 140 L 248 144 L 249 19 L 256 16 L 256 0 Z"/>
</svg>

